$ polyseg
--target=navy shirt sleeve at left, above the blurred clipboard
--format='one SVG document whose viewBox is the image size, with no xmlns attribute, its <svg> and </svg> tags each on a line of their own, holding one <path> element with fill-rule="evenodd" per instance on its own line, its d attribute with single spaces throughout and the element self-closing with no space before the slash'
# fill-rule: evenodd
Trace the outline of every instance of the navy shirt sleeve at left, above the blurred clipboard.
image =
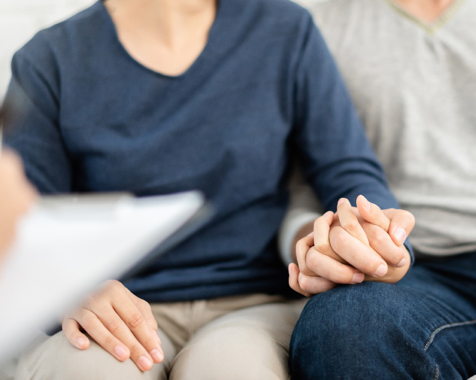
<svg viewBox="0 0 476 380">
<path fill-rule="evenodd" d="M 19 152 L 27 177 L 41 193 L 70 192 L 72 164 L 58 121 L 59 75 L 53 60 L 38 62 L 35 66 L 20 52 L 13 57 L 4 142 Z"/>
</svg>

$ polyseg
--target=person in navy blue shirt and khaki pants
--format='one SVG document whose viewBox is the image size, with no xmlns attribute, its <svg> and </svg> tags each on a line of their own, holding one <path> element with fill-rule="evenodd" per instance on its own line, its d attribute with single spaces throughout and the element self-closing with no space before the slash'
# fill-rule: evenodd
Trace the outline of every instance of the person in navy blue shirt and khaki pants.
<svg viewBox="0 0 476 380">
<path fill-rule="evenodd" d="M 327 210 L 361 194 L 398 208 L 308 12 L 286 0 L 98 1 L 36 34 L 12 74 L 6 103 L 20 111 L 5 139 L 41 193 L 198 189 L 215 210 L 66 316 L 17 377 L 288 378 L 304 301 L 276 233 L 292 160 Z M 357 258 L 348 283 L 398 281 L 408 266 L 392 263 L 411 255 L 399 252 Z"/>
</svg>

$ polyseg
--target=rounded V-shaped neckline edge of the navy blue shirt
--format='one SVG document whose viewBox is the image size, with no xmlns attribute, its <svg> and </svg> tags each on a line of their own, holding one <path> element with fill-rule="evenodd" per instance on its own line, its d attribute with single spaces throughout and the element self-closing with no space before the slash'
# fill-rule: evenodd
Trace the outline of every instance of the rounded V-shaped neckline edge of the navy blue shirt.
<svg viewBox="0 0 476 380">
<path fill-rule="evenodd" d="M 171 80 L 179 80 L 184 77 L 188 77 L 191 75 L 190 73 L 195 71 L 197 67 L 201 65 L 201 62 L 206 59 L 207 55 L 209 54 L 209 51 L 212 51 L 212 45 L 214 44 L 214 40 L 217 35 L 217 30 L 220 29 L 220 24 L 222 23 L 222 14 L 225 13 L 223 10 L 224 5 L 227 3 L 226 0 L 220 0 L 217 1 L 216 4 L 216 14 L 215 14 L 215 20 L 213 20 L 213 24 L 208 32 L 208 39 L 205 44 L 205 47 L 203 50 L 200 52 L 198 57 L 193 61 L 193 63 L 181 74 L 179 75 L 167 75 L 163 74 L 160 71 L 153 70 L 150 67 L 145 66 L 144 64 L 140 63 L 137 59 L 135 59 L 124 47 L 122 44 L 121 40 L 119 39 L 119 34 L 117 33 L 116 25 L 114 24 L 114 21 L 112 20 L 111 15 L 109 14 L 108 10 L 106 9 L 106 6 L 103 3 L 103 0 L 98 0 L 98 5 L 101 7 L 101 12 L 103 13 L 103 16 L 107 19 L 107 22 L 109 24 L 109 27 L 111 28 L 111 32 L 114 34 L 114 42 L 115 44 L 119 47 L 119 49 L 122 51 L 123 54 L 127 56 L 129 60 L 131 60 L 135 65 L 139 66 L 140 68 L 163 78 L 166 79 L 171 79 Z"/>
</svg>

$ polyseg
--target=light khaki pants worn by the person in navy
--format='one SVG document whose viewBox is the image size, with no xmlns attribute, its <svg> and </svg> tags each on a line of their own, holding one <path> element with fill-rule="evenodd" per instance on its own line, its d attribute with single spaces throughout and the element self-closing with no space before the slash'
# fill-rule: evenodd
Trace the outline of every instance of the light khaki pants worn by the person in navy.
<svg viewBox="0 0 476 380">
<path fill-rule="evenodd" d="M 16 379 L 288 379 L 288 346 L 306 300 L 255 294 L 152 304 L 165 359 L 141 372 L 94 341 L 82 351 L 62 332 L 25 353 Z"/>
</svg>

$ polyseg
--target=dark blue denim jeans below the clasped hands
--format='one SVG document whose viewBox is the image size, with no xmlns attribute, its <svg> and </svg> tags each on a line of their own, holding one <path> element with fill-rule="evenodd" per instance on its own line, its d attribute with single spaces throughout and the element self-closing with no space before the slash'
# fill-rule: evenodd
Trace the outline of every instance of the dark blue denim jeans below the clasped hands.
<svg viewBox="0 0 476 380">
<path fill-rule="evenodd" d="M 416 264 L 397 284 L 309 299 L 290 343 L 293 379 L 467 379 L 476 374 L 476 253 Z"/>
</svg>

